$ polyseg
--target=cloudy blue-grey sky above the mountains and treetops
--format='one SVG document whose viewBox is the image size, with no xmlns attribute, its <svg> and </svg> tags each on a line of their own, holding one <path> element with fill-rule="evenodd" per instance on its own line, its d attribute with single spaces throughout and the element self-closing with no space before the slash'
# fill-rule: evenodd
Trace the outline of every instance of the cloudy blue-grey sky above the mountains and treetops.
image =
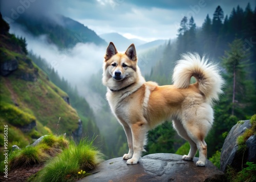
<svg viewBox="0 0 256 182">
<path fill-rule="evenodd" d="M 117 32 L 127 38 L 146 41 L 169 39 L 177 36 L 183 16 L 193 16 L 201 27 L 207 14 L 212 17 L 220 5 L 226 14 L 233 7 L 243 9 L 255 0 L 1 0 L 1 12 L 11 18 L 13 10 L 25 13 L 59 13 L 75 19 L 94 30 L 97 34 Z"/>
</svg>

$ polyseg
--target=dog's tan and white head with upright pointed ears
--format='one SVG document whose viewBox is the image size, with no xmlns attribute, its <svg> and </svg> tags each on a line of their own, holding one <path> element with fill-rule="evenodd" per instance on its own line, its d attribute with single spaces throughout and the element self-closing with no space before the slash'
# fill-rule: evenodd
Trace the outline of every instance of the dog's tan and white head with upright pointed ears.
<svg viewBox="0 0 256 182">
<path fill-rule="evenodd" d="M 111 90 L 118 90 L 135 83 L 138 75 L 135 45 L 131 44 L 125 53 L 118 53 L 113 42 L 106 48 L 103 63 L 103 84 Z"/>
</svg>

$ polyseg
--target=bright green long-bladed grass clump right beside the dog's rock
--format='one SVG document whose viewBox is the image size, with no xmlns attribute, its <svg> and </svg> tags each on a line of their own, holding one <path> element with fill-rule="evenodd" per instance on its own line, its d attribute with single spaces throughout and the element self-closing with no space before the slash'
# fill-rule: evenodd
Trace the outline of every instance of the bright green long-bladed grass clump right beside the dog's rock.
<svg viewBox="0 0 256 182">
<path fill-rule="evenodd" d="M 49 160 L 31 181 L 74 181 L 89 173 L 79 171 L 94 169 L 103 155 L 92 145 L 93 141 L 82 139 L 78 144 L 70 142 L 69 148 Z"/>
</svg>

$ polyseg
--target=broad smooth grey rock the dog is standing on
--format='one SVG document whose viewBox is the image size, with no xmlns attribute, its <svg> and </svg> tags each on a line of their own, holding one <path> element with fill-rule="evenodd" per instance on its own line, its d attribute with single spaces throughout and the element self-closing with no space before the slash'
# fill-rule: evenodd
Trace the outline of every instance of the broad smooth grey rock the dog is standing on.
<svg viewBox="0 0 256 182">
<path fill-rule="evenodd" d="M 224 173 L 207 160 L 205 167 L 182 161 L 182 156 L 171 153 L 145 155 L 139 164 L 126 165 L 122 158 L 104 161 L 90 171 L 92 175 L 78 180 L 87 181 L 224 181 Z"/>
</svg>

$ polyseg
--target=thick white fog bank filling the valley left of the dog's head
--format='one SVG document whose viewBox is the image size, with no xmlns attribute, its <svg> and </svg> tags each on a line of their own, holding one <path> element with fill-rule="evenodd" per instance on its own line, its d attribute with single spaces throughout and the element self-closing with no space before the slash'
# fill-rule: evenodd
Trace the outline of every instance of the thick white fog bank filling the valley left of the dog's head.
<svg viewBox="0 0 256 182">
<path fill-rule="evenodd" d="M 105 48 L 93 43 L 77 43 L 73 48 L 60 51 L 54 44 L 49 44 L 46 35 L 33 37 L 17 24 L 12 24 L 10 33 L 25 37 L 28 50 L 44 58 L 58 74 L 73 86 L 87 82 L 93 73 L 102 67 Z"/>
</svg>

